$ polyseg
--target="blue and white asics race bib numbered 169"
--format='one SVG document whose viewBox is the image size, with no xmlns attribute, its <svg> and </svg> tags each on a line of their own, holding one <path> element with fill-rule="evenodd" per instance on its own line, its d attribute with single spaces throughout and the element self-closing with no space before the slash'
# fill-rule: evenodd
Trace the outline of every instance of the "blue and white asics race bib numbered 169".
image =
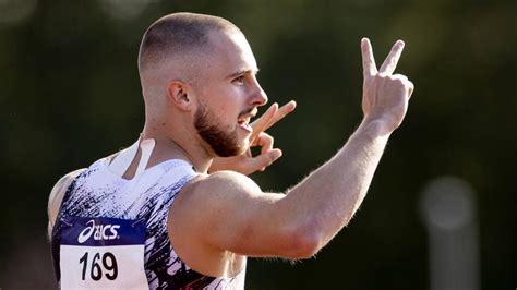
<svg viewBox="0 0 517 290">
<path fill-rule="evenodd" d="M 148 289 L 144 221 L 72 217 L 62 225 L 61 289 Z"/>
</svg>

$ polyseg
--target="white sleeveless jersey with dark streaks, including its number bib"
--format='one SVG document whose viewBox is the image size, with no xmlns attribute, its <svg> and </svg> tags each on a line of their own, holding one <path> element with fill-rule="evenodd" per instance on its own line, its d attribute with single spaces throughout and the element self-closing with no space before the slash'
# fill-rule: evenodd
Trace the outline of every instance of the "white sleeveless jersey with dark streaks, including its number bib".
<svg viewBox="0 0 517 290">
<path fill-rule="evenodd" d="M 52 230 L 61 289 L 243 289 L 245 267 L 230 278 L 204 276 L 175 253 L 168 212 L 193 177 L 175 159 L 122 179 L 100 159 L 75 178 Z"/>
</svg>

